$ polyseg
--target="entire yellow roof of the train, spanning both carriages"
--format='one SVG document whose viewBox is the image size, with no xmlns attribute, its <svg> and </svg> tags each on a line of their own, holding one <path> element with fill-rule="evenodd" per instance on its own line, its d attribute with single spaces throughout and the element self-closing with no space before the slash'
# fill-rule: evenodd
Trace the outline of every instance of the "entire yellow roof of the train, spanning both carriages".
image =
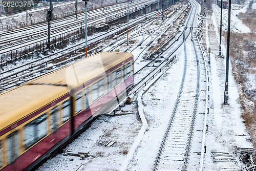
<svg viewBox="0 0 256 171">
<path fill-rule="evenodd" d="M 102 52 L 0 94 L 0 131 L 132 57 Z"/>
</svg>

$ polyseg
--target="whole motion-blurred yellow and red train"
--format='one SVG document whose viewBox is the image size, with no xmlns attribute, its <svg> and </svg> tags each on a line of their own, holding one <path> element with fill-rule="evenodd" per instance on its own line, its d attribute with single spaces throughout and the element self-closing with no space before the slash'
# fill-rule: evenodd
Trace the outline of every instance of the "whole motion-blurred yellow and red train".
<svg viewBox="0 0 256 171">
<path fill-rule="evenodd" d="M 0 94 L 0 169 L 35 168 L 133 82 L 131 53 L 102 52 Z"/>
</svg>

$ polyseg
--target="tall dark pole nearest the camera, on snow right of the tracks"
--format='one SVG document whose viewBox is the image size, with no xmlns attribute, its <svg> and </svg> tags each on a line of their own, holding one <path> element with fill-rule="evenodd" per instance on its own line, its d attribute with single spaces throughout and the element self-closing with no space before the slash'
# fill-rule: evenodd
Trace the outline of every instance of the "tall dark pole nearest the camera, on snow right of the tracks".
<svg viewBox="0 0 256 171">
<path fill-rule="evenodd" d="M 226 55 L 226 80 L 224 91 L 224 104 L 228 104 L 228 69 L 229 69 L 229 44 L 230 44 L 230 15 L 231 15 L 231 0 L 228 1 L 228 22 L 227 22 L 227 55 Z"/>
</svg>

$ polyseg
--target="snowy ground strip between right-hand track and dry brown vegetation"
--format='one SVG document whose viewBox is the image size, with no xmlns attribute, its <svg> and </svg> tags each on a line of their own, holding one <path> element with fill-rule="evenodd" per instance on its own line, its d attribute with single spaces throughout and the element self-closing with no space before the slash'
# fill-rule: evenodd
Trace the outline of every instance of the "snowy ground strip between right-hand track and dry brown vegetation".
<svg viewBox="0 0 256 171">
<path fill-rule="evenodd" d="M 214 13 L 215 14 L 215 13 Z M 210 24 L 209 29 L 206 27 L 206 44 L 207 49 L 211 49 L 210 65 L 211 65 L 211 83 L 212 95 L 210 112 L 208 117 L 209 131 L 206 134 L 206 145 L 208 151 L 228 152 L 233 154 L 236 147 L 250 147 L 252 144 L 248 142 L 248 132 L 241 118 L 241 106 L 239 103 L 239 93 L 237 83 L 232 76 L 232 66 L 229 61 L 229 105 L 223 105 L 225 90 L 225 70 L 226 59 L 219 57 L 219 32 L 216 17 L 208 16 L 206 26 Z M 241 30 L 246 30 L 242 24 L 238 24 Z M 222 38 L 222 55 L 226 56 L 225 40 Z M 209 162 L 210 154 L 206 154 L 206 163 Z M 236 159 L 236 156 L 234 156 Z M 238 159 L 236 159 L 238 160 Z M 235 161 L 236 161 L 235 160 Z M 230 167 L 233 170 L 239 169 L 239 164 L 235 163 L 218 163 L 221 167 Z M 240 167 L 241 168 L 241 167 Z"/>
</svg>

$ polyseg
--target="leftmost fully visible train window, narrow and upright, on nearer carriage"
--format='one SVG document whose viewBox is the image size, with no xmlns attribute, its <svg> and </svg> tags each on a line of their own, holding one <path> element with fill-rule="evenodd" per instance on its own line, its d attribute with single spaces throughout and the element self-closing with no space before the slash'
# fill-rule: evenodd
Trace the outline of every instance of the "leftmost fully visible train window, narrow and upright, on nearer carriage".
<svg viewBox="0 0 256 171">
<path fill-rule="evenodd" d="M 8 163 L 13 162 L 19 154 L 19 136 L 18 131 L 13 132 L 7 137 L 7 161 Z"/>
</svg>

